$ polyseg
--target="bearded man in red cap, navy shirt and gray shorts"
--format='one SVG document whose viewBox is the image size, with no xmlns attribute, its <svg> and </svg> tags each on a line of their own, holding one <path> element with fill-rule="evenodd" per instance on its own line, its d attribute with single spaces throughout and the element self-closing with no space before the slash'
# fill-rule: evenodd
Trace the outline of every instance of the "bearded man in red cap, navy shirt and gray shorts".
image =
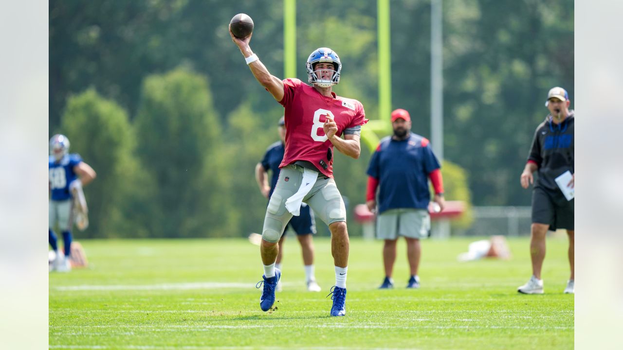
<svg viewBox="0 0 623 350">
<path fill-rule="evenodd" d="M 380 288 L 393 288 L 392 271 L 396 262 L 398 236 L 407 241 L 411 278 L 407 288 L 419 288 L 417 277 L 420 239 L 429 237 L 430 202 L 428 180 L 435 189 L 434 201 L 444 210 L 444 184 L 439 161 L 429 141 L 411 133 L 411 116 L 402 109 L 391 113 L 393 136 L 381 140 L 368 166 L 368 209 L 377 210 L 377 236 L 384 239 L 385 280 Z M 376 189 L 379 187 L 378 201 Z M 378 207 L 378 208 L 377 208 Z"/>
</svg>

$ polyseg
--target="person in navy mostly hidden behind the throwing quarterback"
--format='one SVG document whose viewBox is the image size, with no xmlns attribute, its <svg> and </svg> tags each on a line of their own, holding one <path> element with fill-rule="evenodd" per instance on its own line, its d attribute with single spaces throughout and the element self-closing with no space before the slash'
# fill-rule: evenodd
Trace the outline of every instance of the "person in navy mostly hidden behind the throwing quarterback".
<svg viewBox="0 0 623 350">
<path fill-rule="evenodd" d="M 270 145 L 264 154 L 264 158 L 260 163 L 255 166 L 255 179 L 257 185 L 260 187 L 262 195 L 268 199 L 272 196 L 273 189 L 277 185 L 277 179 L 279 177 L 280 169 L 279 164 L 283 160 L 283 152 L 285 151 L 285 120 L 282 117 L 279 120 L 279 136 L 281 141 L 277 141 Z M 268 171 L 272 172 L 270 177 L 270 185 L 268 183 Z M 303 203 L 300 208 L 300 215 L 293 216 L 290 222 L 283 230 L 283 235 L 279 240 L 279 252 L 277 255 L 277 261 L 275 262 L 275 268 L 281 270 L 282 257 L 283 257 L 283 240 L 287 232 L 288 226 L 297 234 L 298 242 L 301 244 L 301 252 L 303 255 L 303 263 L 305 264 L 305 283 L 308 291 L 320 291 L 320 286 L 316 283 L 316 277 L 314 275 L 313 265 L 313 239 L 312 235 L 316 234 L 316 222 L 313 216 L 313 211 L 310 207 Z M 281 291 L 281 281 L 277 282 L 277 291 Z"/>
</svg>

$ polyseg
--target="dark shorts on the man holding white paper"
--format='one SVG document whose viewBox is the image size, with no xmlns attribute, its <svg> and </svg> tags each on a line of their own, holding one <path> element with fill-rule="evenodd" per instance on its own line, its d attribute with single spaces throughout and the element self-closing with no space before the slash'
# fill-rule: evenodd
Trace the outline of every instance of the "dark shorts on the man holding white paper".
<svg viewBox="0 0 623 350">
<path fill-rule="evenodd" d="M 532 222 L 549 225 L 549 230 L 573 230 L 574 207 L 575 199 L 567 201 L 562 193 L 552 193 L 541 187 L 535 187 L 532 192 Z"/>
</svg>

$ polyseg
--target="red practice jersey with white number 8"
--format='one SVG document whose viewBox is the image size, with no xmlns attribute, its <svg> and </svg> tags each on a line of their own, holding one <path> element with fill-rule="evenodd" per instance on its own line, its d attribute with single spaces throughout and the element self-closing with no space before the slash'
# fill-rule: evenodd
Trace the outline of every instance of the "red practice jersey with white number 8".
<svg viewBox="0 0 623 350">
<path fill-rule="evenodd" d="M 311 162 L 328 177 L 333 177 L 333 144 L 323 124 L 330 115 L 338 125 L 336 136 L 345 129 L 368 123 L 363 105 L 357 100 L 335 95 L 326 97 L 295 78 L 283 80 L 285 108 L 285 154 L 279 168 L 295 161 Z"/>
</svg>

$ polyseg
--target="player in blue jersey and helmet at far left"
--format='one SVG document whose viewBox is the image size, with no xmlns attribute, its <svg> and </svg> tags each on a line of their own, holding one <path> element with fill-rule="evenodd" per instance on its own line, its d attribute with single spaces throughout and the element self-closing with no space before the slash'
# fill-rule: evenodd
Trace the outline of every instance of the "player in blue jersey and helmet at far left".
<svg viewBox="0 0 623 350">
<path fill-rule="evenodd" d="M 69 154 L 69 140 L 59 134 L 50 139 L 48 169 L 50 189 L 48 241 L 56 252 L 52 269 L 67 272 L 71 269 L 71 229 L 74 220 L 82 229 L 88 226 L 87 202 L 82 186 L 93 181 L 96 175 L 93 168 L 82 161 L 80 155 Z M 59 253 L 53 230 L 56 224 L 63 234 L 64 256 Z"/>
</svg>

